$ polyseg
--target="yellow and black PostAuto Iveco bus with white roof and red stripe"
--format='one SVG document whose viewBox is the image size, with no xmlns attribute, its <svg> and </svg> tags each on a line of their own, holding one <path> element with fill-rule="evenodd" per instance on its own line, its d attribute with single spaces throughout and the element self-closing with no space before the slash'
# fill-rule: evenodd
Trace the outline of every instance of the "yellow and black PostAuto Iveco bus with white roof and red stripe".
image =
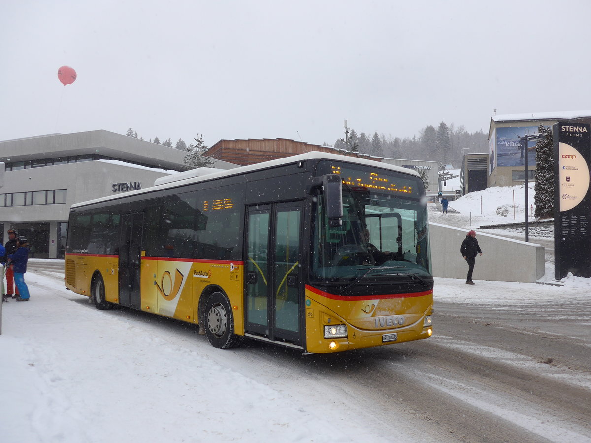
<svg viewBox="0 0 591 443">
<path fill-rule="evenodd" d="M 203 175 L 205 174 L 205 175 Z M 309 152 L 74 204 L 66 288 L 304 353 L 430 337 L 433 276 L 421 178 Z"/>
</svg>

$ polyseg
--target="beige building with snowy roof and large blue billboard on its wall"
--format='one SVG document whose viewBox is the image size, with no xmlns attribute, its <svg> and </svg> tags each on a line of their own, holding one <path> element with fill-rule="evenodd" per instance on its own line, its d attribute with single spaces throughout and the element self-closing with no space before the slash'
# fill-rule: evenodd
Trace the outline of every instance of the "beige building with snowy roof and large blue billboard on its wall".
<svg viewBox="0 0 591 443">
<path fill-rule="evenodd" d="M 591 123 L 591 110 L 534 112 L 491 117 L 488 141 L 488 185 L 511 186 L 525 181 L 525 149 L 520 137 L 534 135 L 540 125 L 568 121 Z M 535 141 L 528 144 L 528 180 L 535 180 Z"/>
</svg>

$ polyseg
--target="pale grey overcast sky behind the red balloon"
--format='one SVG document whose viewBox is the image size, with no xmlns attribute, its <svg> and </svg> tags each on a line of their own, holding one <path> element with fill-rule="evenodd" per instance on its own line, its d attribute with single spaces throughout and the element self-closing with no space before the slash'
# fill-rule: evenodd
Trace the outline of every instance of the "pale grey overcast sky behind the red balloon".
<svg viewBox="0 0 591 443">
<path fill-rule="evenodd" d="M 0 3 L 0 140 L 134 128 L 312 144 L 591 109 L 591 2 Z M 77 72 L 57 79 L 60 66 Z"/>
</svg>

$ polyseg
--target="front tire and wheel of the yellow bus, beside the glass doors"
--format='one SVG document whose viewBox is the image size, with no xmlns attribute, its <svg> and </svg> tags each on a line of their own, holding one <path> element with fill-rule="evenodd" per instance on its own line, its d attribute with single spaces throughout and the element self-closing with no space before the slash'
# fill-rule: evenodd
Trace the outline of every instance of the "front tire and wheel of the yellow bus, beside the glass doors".
<svg viewBox="0 0 591 443">
<path fill-rule="evenodd" d="M 203 327 L 209 343 L 218 349 L 229 349 L 240 341 L 234 334 L 232 306 L 222 292 L 213 292 L 205 304 Z"/>
</svg>

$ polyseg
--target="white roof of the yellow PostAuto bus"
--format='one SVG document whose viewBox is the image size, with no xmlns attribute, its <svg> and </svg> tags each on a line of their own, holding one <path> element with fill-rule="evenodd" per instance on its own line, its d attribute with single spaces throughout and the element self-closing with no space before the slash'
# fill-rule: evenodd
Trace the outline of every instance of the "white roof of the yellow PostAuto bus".
<svg viewBox="0 0 591 443">
<path fill-rule="evenodd" d="M 233 175 L 242 175 L 247 172 L 252 171 L 260 171 L 270 168 L 275 168 L 282 165 L 293 164 L 301 161 L 311 160 L 311 159 L 326 159 L 326 160 L 335 160 L 335 161 L 342 161 L 348 162 L 357 165 L 366 165 L 371 166 L 374 168 L 381 168 L 387 169 L 391 171 L 402 172 L 408 175 L 415 175 L 420 177 L 414 170 L 410 170 L 408 168 L 402 168 L 400 166 L 390 165 L 386 163 L 381 163 L 374 160 L 366 160 L 364 158 L 358 157 L 348 157 L 347 155 L 339 155 L 339 154 L 331 154 L 329 152 L 320 152 L 320 151 L 310 151 L 306 152 L 305 154 L 297 154 L 291 155 L 290 157 L 278 158 L 275 160 L 265 161 L 261 163 L 256 163 L 254 165 L 243 166 L 239 168 L 233 168 L 229 170 L 216 170 L 215 168 L 196 168 L 190 171 L 178 172 L 178 174 L 171 174 L 165 177 L 157 178 L 154 181 L 154 186 L 148 188 L 142 188 L 137 191 L 129 191 L 124 194 L 117 194 L 116 196 L 108 196 L 108 197 L 101 197 L 96 198 L 95 200 L 88 200 L 88 201 L 80 201 L 79 203 L 74 203 L 72 205 L 73 208 L 86 206 L 87 204 L 95 204 L 100 203 L 102 201 L 109 201 L 109 200 L 118 200 L 119 198 L 135 196 L 138 194 L 146 194 L 152 191 L 157 191 L 161 189 L 167 188 L 174 188 L 181 185 L 187 185 L 191 183 L 199 183 L 200 181 L 209 181 L 213 180 L 214 178 L 221 178 L 221 177 L 232 177 Z M 215 172 L 213 172 L 215 171 Z"/>
</svg>

